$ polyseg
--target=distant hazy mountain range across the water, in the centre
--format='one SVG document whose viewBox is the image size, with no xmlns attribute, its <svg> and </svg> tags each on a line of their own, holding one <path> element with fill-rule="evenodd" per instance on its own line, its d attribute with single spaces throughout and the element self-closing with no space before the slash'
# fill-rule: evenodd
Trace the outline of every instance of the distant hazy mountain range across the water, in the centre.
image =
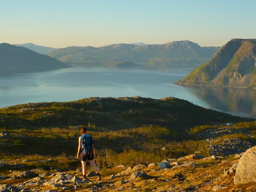
<svg viewBox="0 0 256 192">
<path fill-rule="evenodd" d="M 145 65 L 199 65 L 211 58 L 219 47 L 200 47 L 194 42 L 174 41 L 163 45 L 113 44 L 99 48 L 68 47 L 48 55 L 63 62 L 133 62 Z"/>
</svg>

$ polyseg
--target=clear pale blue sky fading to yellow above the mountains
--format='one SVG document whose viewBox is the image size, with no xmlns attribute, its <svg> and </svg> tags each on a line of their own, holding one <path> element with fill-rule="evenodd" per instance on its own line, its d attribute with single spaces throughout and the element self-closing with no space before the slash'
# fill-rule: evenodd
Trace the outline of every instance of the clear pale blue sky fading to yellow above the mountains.
<svg viewBox="0 0 256 192">
<path fill-rule="evenodd" d="M 0 43 L 63 48 L 256 38 L 255 0 L 0 0 Z"/>
</svg>

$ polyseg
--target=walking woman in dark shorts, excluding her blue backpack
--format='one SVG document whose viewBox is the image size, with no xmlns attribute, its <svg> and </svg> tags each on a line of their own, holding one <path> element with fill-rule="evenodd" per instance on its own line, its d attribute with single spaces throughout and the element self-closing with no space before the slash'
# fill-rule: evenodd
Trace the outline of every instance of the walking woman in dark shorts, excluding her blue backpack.
<svg viewBox="0 0 256 192">
<path fill-rule="evenodd" d="M 86 161 L 88 160 L 90 162 L 90 164 L 93 166 L 97 177 L 98 177 L 98 181 L 101 180 L 100 174 L 99 174 L 99 169 L 97 168 L 97 166 L 95 165 L 94 162 L 94 151 L 93 151 L 93 147 L 92 147 L 92 152 L 90 154 L 87 154 L 84 150 L 82 146 L 82 137 L 84 135 L 88 135 L 87 134 L 87 129 L 86 127 L 81 127 L 81 136 L 78 138 L 78 151 L 77 151 L 77 158 L 81 160 L 81 164 L 82 164 L 82 175 L 83 175 L 83 181 L 90 181 L 89 179 L 87 179 L 86 177 Z M 92 145 L 93 145 L 93 140 L 92 140 Z"/>
</svg>

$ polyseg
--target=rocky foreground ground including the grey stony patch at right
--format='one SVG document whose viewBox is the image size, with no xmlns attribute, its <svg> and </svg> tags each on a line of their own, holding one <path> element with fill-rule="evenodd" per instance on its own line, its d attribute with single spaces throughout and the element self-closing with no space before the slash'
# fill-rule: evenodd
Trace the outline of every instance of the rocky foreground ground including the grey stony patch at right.
<svg viewBox="0 0 256 192">
<path fill-rule="evenodd" d="M 245 135 L 248 139 L 228 137 L 228 135 L 237 133 Z M 200 134 L 204 139 L 206 138 L 208 143 L 208 157 L 197 153 L 179 159 L 164 159 L 162 162 L 147 165 L 119 165 L 101 169 L 101 181 L 97 181 L 94 172 L 89 172 L 87 176 L 90 181 L 83 182 L 81 169 L 66 172 L 61 169 L 50 172 L 39 168 L 26 170 L 28 167 L 24 166 L 24 162 L 29 162 L 29 159 L 17 159 L 12 162 L 0 160 L 0 170 L 7 170 L 0 175 L 0 192 L 256 191 L 255 182 L 234 184 L 240 158 L 248 148 L 255 146 L 251 130 L 227 126 L 221 129 L 206 129 Z M 227 136 L 219 138 L 223 135 Z M 37 161 L 48 164 L 56 160 L 37 159 Z M 252 162 L 252 165 L 253 163 L 255 164 Z M 77 164 L 80 164 L 78 160 Z M 92 169 L 91 166 L 88 168 Z"/>
</svg>

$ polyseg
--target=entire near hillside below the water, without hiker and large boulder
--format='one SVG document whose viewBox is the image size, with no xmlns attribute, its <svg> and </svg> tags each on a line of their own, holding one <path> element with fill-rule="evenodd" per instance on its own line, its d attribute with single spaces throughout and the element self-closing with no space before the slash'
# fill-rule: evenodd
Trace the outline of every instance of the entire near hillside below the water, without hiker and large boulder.
<svg viewBox="0 0 256 192">
<path fill-rule="evenodd" d="M 235 154 L 256 144 L 253 120 L 172 97 L 9 106 L 0 109 L 0 190 L 253 191 L 233 182 Z M 75 154 L 84 125 L 101 181 L 90 165 L 91 182 L 81 181 Z"/>
</svg>

